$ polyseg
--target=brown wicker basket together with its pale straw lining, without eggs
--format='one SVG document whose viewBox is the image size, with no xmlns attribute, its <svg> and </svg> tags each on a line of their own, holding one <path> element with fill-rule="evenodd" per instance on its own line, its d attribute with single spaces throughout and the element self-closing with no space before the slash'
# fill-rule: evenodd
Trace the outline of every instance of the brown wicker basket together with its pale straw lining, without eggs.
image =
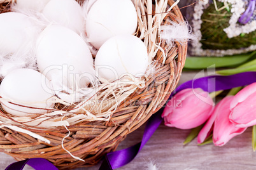
<svg viewBox="0 0 256 170">
<path fill-rule="evenodd" d="M 13 1 L 0 2 L 1 13 L 11 10 Z M 145 77 L 99 84 L 93 98 L 72 105 L 59 101 L 44 115 L 15 117 L 1 109 L 1 152 L 17 160 L 42 157 L 59 169 L 93 166 L 164 106 L 180 78 L 187 42 L 167 44 L 159 28 L 182 24 L 183 16 L 173 0 L 134 4 L 136 36 L 145 42 L 152 61 Z"/>
</svg>

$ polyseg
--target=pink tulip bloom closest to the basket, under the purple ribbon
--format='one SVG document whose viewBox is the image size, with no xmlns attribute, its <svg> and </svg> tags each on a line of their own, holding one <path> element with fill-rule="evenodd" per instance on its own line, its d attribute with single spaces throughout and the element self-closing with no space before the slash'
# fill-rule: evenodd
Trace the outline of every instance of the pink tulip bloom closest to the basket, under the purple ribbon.
<svg viewBox="0 0 256 170">
<path fill-rule="evenodd" d="M 210 117 L 213 107 L 208 92 L 199 88 L 183 89 L 168 101 L 162 117 L 166 126 L 192 129 Z"/>
</svg>

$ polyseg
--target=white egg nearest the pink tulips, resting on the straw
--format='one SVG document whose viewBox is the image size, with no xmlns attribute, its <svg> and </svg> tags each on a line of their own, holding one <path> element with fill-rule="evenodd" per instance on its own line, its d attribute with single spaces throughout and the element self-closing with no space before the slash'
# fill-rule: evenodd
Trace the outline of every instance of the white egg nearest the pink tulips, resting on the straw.
<svg viewBox="0 0 256 170">
<path fill-rule="evenodd" d="M 106 41 L 96 55 L 95 66 L 99 77 L 115 81 L 125 74 L 145 75 L 148 53 L 145 44 L 136 36 L 118 35 Z"/>
</svg>

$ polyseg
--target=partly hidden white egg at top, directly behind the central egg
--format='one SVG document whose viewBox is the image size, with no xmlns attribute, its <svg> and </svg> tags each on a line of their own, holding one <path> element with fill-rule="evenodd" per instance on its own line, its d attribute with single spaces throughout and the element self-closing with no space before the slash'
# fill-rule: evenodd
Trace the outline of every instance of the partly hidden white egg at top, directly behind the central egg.
<svg viewBox="0 0 256 170">
<path fill-rule="evenodd" d="M 50 0 L 43 9 L 43 15 L 78 34 L 84 30 L 82 7 L 75 0 Z"/>
</svg>

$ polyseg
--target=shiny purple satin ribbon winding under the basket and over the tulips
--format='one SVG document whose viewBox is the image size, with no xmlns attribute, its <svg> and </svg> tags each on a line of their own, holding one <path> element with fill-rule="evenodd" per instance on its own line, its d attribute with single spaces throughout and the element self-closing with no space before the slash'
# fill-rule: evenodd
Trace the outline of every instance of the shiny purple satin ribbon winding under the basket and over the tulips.
<svg viewBox="0 0 256 170">
<path fill-rule="evenodd" d="M 229 75 L 229 76 L 212 75 L 208 77 L 202 77 L 199 79 L 187 81 L 181 84 L 180 86 L 178 86 L 178 88 L 176 88 L 175 91 L 173 91 L 173 93 L 171 93 L 171 96 L 187 88 L 201 88 L 204 91 L 208 91 L 209 93 L 211 93 L 213 91 L 232 89 L 239 86 L 246 86 L 248 84 L 252 84 L 253 82 L 256 82 L 256 72 L 243 72 L 240 74 Z M 162 118 L 161 118 L 162 111 L 163 111 L 163 108 L 161 108 L 157 113 L 153 114 L 152 117 L 150 117 L 150 119 L 146 124 L 145 131 L 143 134 L 143 139 L 141 142 L 137 143 L 132 147 L 108 153 L 105 159 L 103 160 L 103 163 L 101 164 L 101 167 L 99 168 L 99 170 L 111 170 L 112 168 L 115 169 L 118 167 L 122 167 L 125 164 L 128 164 L 129 162 L 131 162 L 131 160 L 134 159 L 134 157 L 136 157 L 136 155 L 143 148 L 146 142 L 150 139 L 150 137 L 155 132 L 155 130 L 159 127 L 160 123 L 162 122 Z M 20 161 L 22 163 L 20 162 L 13 163 L 15 164 L 14 166 L 13 164 L 11 164 L 10 166 L 8 166 L 10 167 L 10 169 L 8 169 L 7 167 L 6 170 L 19 169 L 20 167 L 22 167 L 20 166 L 20 164 L 23 164 L 23 167 L 24 167 L 26 163 L 34 167 L 34 169 L 36 170 L 41 170 L 41 169 L 56 170 L 57 169 L 47 160 L 45 162 L 44 159 L 35 158 L 35 159 L 28 159 L 28 160 L 22 160 L 22 161 Z"/>
</svg>

